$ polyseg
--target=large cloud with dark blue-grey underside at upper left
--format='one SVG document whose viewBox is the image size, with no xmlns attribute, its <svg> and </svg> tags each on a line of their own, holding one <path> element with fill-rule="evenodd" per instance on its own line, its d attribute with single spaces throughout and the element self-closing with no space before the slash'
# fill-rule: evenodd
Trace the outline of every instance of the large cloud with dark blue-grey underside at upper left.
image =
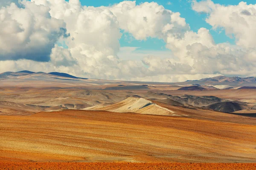
<svg viewBox="0 0 256 170">
<path fill-rule="evenodd" d="M 0 60 L 31 59 L 47 62 L 60 37 L 67 37 L 65 23 L 52 18 L 49 8 L 29 1 L 0 8 Z"/>
</svg>

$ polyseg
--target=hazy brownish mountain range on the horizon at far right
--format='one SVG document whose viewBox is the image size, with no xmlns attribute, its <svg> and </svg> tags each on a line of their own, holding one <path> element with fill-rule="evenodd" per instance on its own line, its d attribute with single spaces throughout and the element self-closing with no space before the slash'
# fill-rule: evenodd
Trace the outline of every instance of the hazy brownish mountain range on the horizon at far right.
<svg viewBox="0 0 256 170">
<path fill-rule="evenodd" d="M 256 82 L 256 77 L 217 76 L 200 80 L 187 80 L 186 82 Z"/>
</svg>

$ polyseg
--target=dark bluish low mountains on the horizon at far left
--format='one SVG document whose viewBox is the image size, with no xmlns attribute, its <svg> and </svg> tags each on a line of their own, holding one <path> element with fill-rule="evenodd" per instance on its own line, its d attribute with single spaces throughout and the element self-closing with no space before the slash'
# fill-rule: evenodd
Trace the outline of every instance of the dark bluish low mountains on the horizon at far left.
<svg viewBox="0 0 256 170">
<path fill-rule="evenodd" d="M 18 72 L 4 72 L 0 74 L 0 79 L 12 79 L 16 77 L 21 76 L 27 76 L 27 75 L 35 75 L 35 74 L 45 74 L 45 75 L 52 75 L 52 76 L 58 76 L 58 77 L 65 77 L 65 78 L 72 78 L 72 79 L 86 79 L 81 77 L 75 77 L 67 73 L 58 73 L 58 72 L 51 72 L 51 73 L 44 73 L 44 72 L 32 72 L 32 71 L 18 71 Z"/>
</svg>

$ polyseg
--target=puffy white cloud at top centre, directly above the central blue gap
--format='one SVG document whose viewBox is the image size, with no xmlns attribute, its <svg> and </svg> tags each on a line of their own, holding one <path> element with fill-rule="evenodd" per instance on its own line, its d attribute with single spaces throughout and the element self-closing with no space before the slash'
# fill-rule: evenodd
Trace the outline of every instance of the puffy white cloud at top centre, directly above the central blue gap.
<svg viewBox="0 0 256 170">
<path fill-rule="evenodd" d="M 123 1 L 110 7 L 119 21 L 119 26 L 131 33 L 137 40 L 147 37 L 163 38 L 167 32 L 180 34 L 189 30 L 180 13 L 165 9 L 157 3 L 145 2 L 136 5 L 135 1 Z"/>
</svg>

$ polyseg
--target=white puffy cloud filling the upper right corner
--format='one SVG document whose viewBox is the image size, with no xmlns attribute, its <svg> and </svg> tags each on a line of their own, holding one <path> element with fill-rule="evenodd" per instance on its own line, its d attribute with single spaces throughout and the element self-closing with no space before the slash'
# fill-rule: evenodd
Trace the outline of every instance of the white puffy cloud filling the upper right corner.
<svg viewBox="0 0 256 170">
<path fill-rule="evenodd" d="M 226 34 L 234 36 L 236 44 L 245 48 L 256 48 L 256 4 L 241 2 L 235 6 L 222 6 L 212 0 L 194 1 L 193 10 L 209 14 L 206 22 L 214 29 L 224 28 Z"/>
</svg>

